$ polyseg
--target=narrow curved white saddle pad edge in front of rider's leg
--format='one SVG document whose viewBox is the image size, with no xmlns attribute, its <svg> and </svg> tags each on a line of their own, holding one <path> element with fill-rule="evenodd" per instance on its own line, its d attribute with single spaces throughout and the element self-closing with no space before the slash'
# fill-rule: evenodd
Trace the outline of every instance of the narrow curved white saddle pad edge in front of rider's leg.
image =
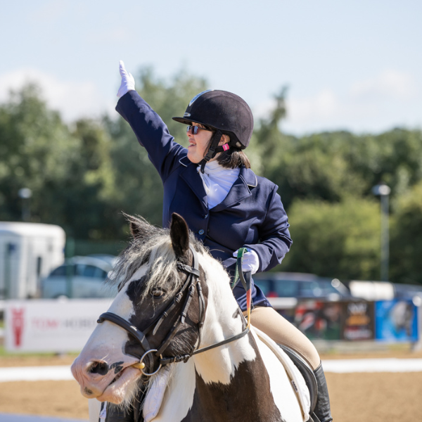
<svg viewBox="0 0 422 422">
<path fill-rule="evenodd" d="M 309 420 L 309 411 L 311 408 L 311 397 L 309 395 L 309 390 L 305 383 L 305 379 L 303 378 L 302 374 L 300 373 L 299 369 L 296 368 L 295 364 L 291 361 L 290 357 L 281 350 L 279 345 L 277 345 L 274 340 L 271 340 L 269 336 L 262 331 L 258 330 L 258 328 L 250 327 L 255 331 L 258 338 L 269 347 L 271 352 L 273 352 L 276 357 L 279 359 L 281 364 L 283 364 L 284 369 L 286 369 L 286 373 L 290 378 L 290 382 L 293 384 L 293 390 L 296 392 L 296 396 L 298 397 L 298 402 L 300 404 L 300 408 L 302 409 L 302 417 L 303 421 L 306 422 Z"/>
</svg>

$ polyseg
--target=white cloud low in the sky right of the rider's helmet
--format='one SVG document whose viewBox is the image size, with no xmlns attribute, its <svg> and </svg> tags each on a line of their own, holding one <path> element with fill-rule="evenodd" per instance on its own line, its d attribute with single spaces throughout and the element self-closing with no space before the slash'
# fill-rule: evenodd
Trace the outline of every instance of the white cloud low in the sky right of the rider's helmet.
<svg viewBox="0 0 422 422">
<path fill-rule="evenodd" d="M 422 103 L 414 77 L 385 70 L 373 79 L 354 82 L 342 93 L 332 88 L 312 96 L 298 97 L 294 89 L 286 98 L 287 117 L 281 125 L 286 132 L 303 134 L 347 129 L 353 132 L 381 132 L 397 126 L 421 127 Z M 256 117 L 266 117 L 274 101 L 255 107 Z"/>
</svg>

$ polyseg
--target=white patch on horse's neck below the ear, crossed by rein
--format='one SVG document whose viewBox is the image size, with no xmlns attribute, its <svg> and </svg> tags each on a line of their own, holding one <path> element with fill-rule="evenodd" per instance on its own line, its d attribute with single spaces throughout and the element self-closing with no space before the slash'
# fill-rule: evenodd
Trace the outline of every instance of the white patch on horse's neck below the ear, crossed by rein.
<svg viewBox="0 0 422 422">
<path fill-rule="evenodd" d="M 205 314 L 203 339 L 200 347 L 218 343 L 242 332 L 241 316 L 234 318 L 238 305 L 233 300 L 229 276 L 209 255 L 201 255 L 201 265 L 208 284 L 208 306 Z M 213 283 L 213 284 L 212 284 Z M 193 359 L 196 371 L 205 383 L 229 384 L 238 365 L 255 359 L 256 354 L 247 337 L 197 354 Z"/>
</svg>

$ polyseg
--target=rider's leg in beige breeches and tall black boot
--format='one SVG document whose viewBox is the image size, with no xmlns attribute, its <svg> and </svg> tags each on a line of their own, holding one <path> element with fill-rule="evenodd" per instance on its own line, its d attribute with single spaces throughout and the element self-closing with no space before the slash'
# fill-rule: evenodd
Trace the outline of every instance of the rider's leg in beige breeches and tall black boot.
<svg viewBox="0 0 422 422">
<path fill-rule="evenodd" d="M 307 336 L 271 307 L 258 306 L 252 309 L 250 323 L 267 334 L 276 343 L 293 349 L 312 366 L 318 385 L 318 399 L 314 413 L 321 422 L 332 421 L 330 399 L 321 359 Z"/>
</svg>

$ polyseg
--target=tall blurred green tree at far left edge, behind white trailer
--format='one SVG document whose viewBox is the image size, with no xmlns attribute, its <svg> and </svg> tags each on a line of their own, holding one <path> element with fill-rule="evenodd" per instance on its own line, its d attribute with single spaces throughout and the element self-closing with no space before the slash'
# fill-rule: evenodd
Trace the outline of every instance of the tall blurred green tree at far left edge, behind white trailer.
<svg viewBox="0 0 422 422">
<path fill-rule="evenodd" d="M 26 187 L 33 192 L 34 221 L 45 221 L 43 207 L 51 196 L 46 186 L 68 177 L 79 140 L 60 115 L 46 107 L 34 84 L 12 92 L 8 103 L 0 106 L 0 140 L 0 218 L 20 220 L 18 191 Z"/>
</svg>

